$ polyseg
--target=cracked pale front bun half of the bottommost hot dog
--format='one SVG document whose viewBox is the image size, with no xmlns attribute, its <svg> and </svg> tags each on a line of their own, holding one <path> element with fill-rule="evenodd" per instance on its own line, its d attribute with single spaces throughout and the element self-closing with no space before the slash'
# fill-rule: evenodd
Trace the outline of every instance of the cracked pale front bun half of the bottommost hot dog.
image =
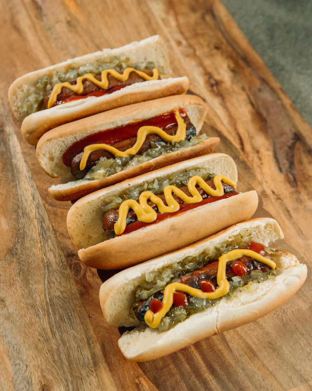
<svg viewBox="0 0 312 391">
<path fill-rule="evenodd" d="M 282 257 L 287 260 L 293 258 L 296 263 L 283 271 L 278 280 L 250 285 L 250 290 L 242 292 L 243 294 L 236 298 L 226 302 L 221 299 L 220 307 L 212 307 L 209 315 L 204 312 L 192 315 L 188 318 L 190 321 L 186 319 L 164 334 L 157 335 L 151 329 L 137 330 L 136 334 L 125 333 L 118 341 L 119 348 L 131 361 L 149 361 L 269 314 L 291 298 L 307 277 L 306 265 L 300 264 L 292 254 L 284 251 L 280 253 L 280 250 L 277 250 L 273 260 L 278 263 Z M 138 346 L 141 346 L 141 349 Z"/>
</svg>

